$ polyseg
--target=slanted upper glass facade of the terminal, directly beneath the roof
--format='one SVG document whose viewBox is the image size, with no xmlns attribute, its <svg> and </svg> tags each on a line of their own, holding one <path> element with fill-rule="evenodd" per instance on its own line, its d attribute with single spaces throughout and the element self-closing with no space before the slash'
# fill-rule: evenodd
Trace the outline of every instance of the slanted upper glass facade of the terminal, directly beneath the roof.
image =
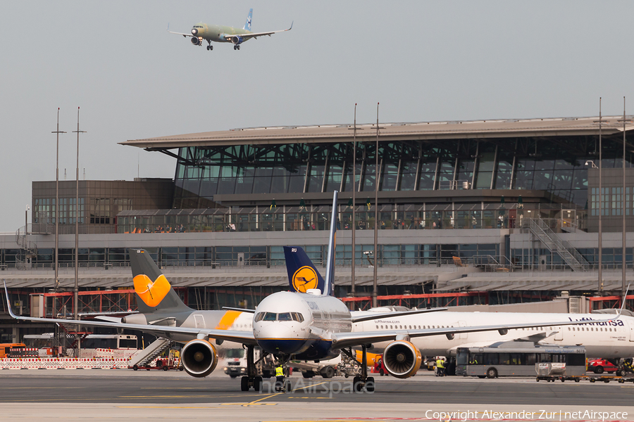
<svg viewBox="0 0 634 422">
<path fill-rule="evenodd" d="M 211 206 L 220 194 L 530 189 L 588 207 L 587 160 L 596 136 L 357 143 L 271 143 L 180 148 L 174 207 Z M 604 168 L 621 165 L 618 136 L 604 136 Z M 628 167 L 632 162 L 628 157 Z M 617 167 L 618 168 L 618 167 Z M 611 193 L 610 193 L 611 194 Z M 615 193 L 614 201 L 622 199 Z M 413 194 L 414 197 L 416 197 Z"/>
</svg>

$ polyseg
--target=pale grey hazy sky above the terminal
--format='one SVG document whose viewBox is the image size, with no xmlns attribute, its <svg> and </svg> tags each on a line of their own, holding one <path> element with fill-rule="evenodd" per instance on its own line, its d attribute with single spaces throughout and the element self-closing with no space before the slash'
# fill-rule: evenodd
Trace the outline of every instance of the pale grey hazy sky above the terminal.
<svg viewBox="0 0 634 422">
<path fill-rule="evenodd" d="M 290 32 L 213 51 L 194 23 Z M 0 231 L 31 182 L 173 177 L 118 142 L 263 125 L 634 114 L 632 1 L 1 1 Z M 137 165 L 140 170 L 137 170 Z M 30 215 L 29 215 L 30 219 Z"/>
</svg>

